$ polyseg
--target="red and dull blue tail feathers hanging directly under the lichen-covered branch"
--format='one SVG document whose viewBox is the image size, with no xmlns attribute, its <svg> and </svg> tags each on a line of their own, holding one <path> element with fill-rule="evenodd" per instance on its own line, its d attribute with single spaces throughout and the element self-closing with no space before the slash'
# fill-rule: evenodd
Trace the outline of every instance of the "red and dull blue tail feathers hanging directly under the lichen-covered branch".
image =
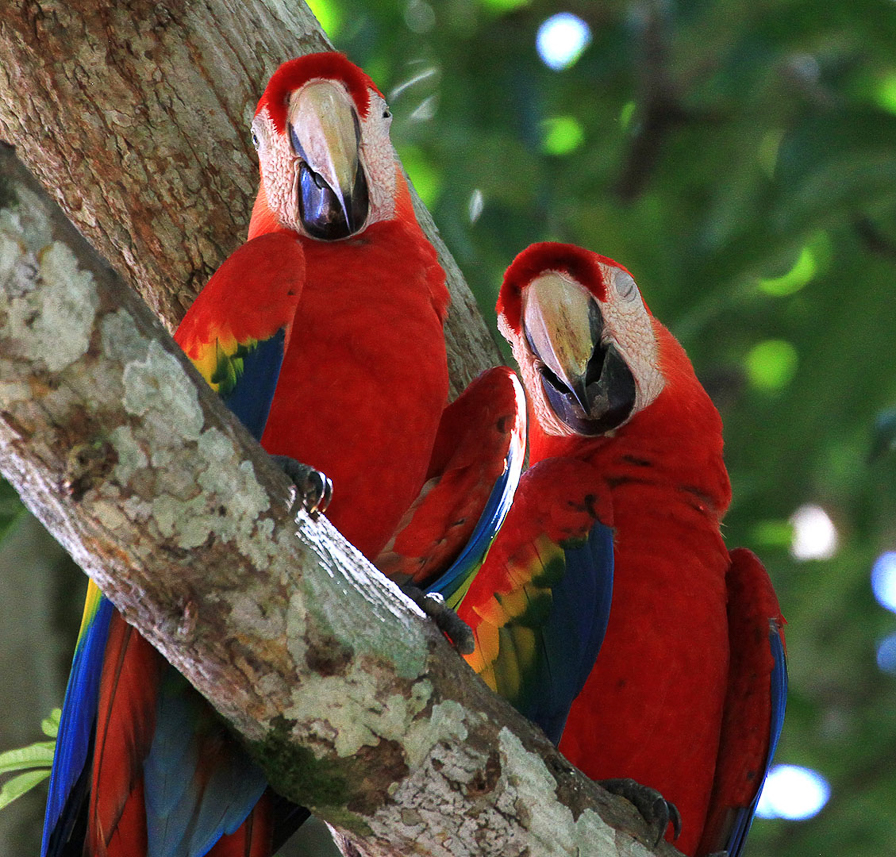
<svg viewBox="0 0 896 857">
<path fill-rule="evenodd" d="M 245 838 L 240 828 L 265 789 L 263 774 L 208 703 L 118 613 L 95 742 L 87 853 L 200 857 L 216 842 L 220 855 L 250 853 L 228 850 L 226 837 Z M 269 820 L 248 832 L 269 842 Z"/>
</svg>

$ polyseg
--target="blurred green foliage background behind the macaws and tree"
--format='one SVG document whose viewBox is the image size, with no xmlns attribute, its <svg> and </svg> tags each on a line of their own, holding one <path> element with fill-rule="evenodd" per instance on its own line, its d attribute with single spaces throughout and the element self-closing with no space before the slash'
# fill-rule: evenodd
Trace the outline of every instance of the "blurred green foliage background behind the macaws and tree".
<svg viewBox="0 0 896 857">
<path fill-rule="evenodd" d="M 726 537 L 761 554 L 790 623 L 777 761 L 830 784 L 815 817 L 757 821 L 748 854 L 896 853 L 896 658 L 878 665 L 896 617 L 870 584 L 896 549 L 896 3 L 310 5 L 390 101 L 405 166 L 490 323 L 517 252 L 582 244 L 632 271 L 716 399 Z M 561 11 L 589 41 L 554 70 L 536 38 Z M 824 510 L 814 530 L 794 517 L 807 504 Z M 26 564 L 23 544 L 62 569 L 24 574 L 5 603 L 30 586 L 71 605 L 40 641 L 2 623 L 2 683 L 41 697 L 3 724 L 8 747 L 39 740 L 44 702 L 61 701 L 81 581 L 4 494 L 0 513 L 0 580 Z M 49 673 L 31 666 L 35 645 L 52 648 Z M 0 813 L 0 842 L 34 835 L 41 800 Z"/>
</svg>

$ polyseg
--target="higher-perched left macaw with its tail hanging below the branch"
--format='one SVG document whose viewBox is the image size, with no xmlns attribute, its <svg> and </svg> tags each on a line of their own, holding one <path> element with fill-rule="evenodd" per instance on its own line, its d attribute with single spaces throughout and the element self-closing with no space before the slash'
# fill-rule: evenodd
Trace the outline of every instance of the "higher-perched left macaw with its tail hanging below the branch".
<svg viewBox="0 0 896 857">
<path fill-rule="evenodd" d="M 333 477 L 330 516 L 371 559 L 422 489 L 448 393 L 448 292 L 390 118 L 342 55 L 278 69 L 252 126 L 249 241 L 175 336 L 268 452 L 310 466 L 292 468 L 306 506 Z M 91 584 L 42 855 L 266 857 L 305 816 Z"/>
</svg>

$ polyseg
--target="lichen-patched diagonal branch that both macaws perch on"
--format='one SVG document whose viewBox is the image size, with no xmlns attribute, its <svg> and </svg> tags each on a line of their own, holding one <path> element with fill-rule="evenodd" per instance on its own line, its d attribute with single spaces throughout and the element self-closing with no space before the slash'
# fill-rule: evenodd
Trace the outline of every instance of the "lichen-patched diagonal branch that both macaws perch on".
<svg viewBox="0 0 896 857">
<path fill-rule="evenodd" d="M 272 784 L 370 855 L 648 853 L 325 520 L 293 519 L 283 475 L 8 151 L 0 179 L 0 470 Z"/>
</svg>

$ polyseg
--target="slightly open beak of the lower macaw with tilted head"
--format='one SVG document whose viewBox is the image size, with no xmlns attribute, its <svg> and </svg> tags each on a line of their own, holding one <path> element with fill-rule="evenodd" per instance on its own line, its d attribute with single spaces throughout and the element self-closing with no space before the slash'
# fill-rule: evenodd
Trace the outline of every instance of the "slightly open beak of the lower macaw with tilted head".
<svg viewBox="0 0 896 857">
<path fill-rule="evenodd" d="M 601 435 L 631 416 L 634 375 L 616 345 L 602 341 L 600 305 L 587 289 L 555 272 L 537 277 L 526 289 L 523 329 L 544 364 L 548 403 L 573 431 Z"/>
</svg>

